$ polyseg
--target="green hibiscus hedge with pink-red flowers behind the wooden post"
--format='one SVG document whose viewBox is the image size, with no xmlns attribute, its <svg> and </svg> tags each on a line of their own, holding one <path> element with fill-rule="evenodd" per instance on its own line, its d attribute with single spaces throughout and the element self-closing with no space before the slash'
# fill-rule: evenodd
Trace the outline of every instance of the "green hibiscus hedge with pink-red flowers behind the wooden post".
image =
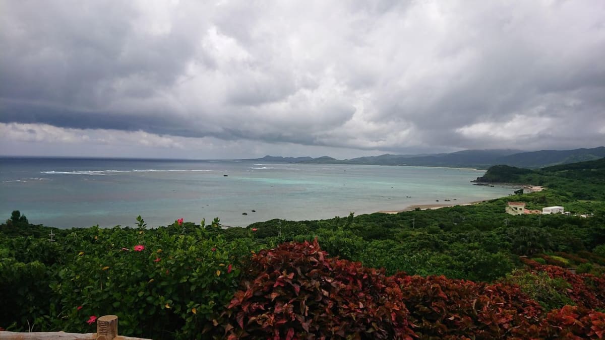
<svg viewBox="0 0 605 340">
<path fill-rule="evenodd" d="M 18 308 L 0 309 L 0 325 L 87 333 L 94 330 L 84 322 L 89 316 L 116 314 L 125 334 L 195 338 L 232 298 L 255 249 L 251 238 L 206 237 L 217 227 L 30 226 L 24 235 L 3 237 L 2 303 Z M 46 237 L 29 235 L 31 229 Z"/>
</svg>

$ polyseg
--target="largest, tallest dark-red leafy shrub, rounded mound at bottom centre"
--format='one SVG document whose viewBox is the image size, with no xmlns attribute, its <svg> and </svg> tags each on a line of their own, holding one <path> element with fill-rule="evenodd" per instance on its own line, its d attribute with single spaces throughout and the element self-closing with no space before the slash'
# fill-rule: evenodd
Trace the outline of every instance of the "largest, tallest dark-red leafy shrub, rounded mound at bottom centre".
<svg viewBox="0 0 605 340">
<path fill-rule="evenodd" d="M 229 339 L 411 339 L 394 276 L 327 258 L 313 243 L 286 243 L 252 258 L 227 307 Z"/>
</svg>

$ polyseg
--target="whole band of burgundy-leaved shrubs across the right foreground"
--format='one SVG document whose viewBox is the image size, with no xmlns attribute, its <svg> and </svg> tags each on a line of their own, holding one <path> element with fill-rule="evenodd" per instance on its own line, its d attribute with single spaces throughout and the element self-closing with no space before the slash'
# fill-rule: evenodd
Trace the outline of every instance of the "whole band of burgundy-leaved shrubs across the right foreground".
<svg viewBox="0 0 605 340">
<path fill-rule="evenodd" d="M 385 276 L 329 258 L 313 243 L 254 255 L 215 324 L 227 339 L 602 339 L 605 278 L 523 258 L 569 282 L 577 306 L 545 311 L 511 284 L 445 276 Z"/>
</svg>

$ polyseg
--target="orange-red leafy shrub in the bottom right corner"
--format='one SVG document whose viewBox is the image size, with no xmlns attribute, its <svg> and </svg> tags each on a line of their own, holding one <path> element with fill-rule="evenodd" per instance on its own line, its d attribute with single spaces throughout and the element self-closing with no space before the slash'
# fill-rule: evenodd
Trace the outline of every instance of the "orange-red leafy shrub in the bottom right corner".
<svg viewBox="0 0 605 340">
<path fill-rule="evenodd" d="M 603 339 L 605 313 L 577 306 L 551 310 L 541 325 L 540 338 Z"/>
</svg>

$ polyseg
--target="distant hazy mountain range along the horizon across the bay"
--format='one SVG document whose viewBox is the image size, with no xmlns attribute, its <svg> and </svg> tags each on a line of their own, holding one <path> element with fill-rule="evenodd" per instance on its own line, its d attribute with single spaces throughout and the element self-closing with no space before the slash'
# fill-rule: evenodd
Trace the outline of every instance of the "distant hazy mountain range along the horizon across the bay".
<svg viewBox="0 0 605 340">
<path fill-rule="evenodd" d="M 312 157 L 275 157 L 265 156 L 260 159 L 248 159 L 258 162 L 290 163 L 328 163 L 328 164 L 367 164 L 367 165 L 400 165 L 400 166 L 448 166 L 453 168 L 489 168 L 492 165 L 509 165 L 519 168 L 542 168 L 567 163 L 597 160 L 605 157 L 605 146 L 592 149 L 574 150 L 540 150 L 525 152 L 522 150 L 465 150 L 450 154 L 421 154 L 358 157 L 339 160 L 328 156 Z"/>
</svg>

